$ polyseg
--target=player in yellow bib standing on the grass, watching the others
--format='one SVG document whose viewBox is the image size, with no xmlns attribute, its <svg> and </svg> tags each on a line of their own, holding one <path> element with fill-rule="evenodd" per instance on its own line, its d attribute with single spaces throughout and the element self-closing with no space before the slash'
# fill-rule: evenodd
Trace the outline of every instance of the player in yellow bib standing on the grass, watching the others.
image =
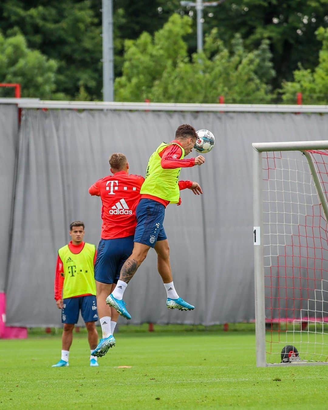
<svg viewBox="0 0 328 410">
<path fill-rule="evenodd" d="M 96 260 L 96 246 L 83 241 L 84 223 L 72 222 L 72 240 L 58 251 L 55 273 L 55 301 L 62 309 L 62 358 L 52 367 L 68 366 L 69 349 L 73 339 L 73 328 L 82 318 L 88 331 L 90 351 L 97 346 L 98 334 L 95 322 L 98 320 L 96 305 L 96 283 L 93 265 Z M 97 358 L 90 356 L 90 366 L 98 366 Z"/>
</svg>

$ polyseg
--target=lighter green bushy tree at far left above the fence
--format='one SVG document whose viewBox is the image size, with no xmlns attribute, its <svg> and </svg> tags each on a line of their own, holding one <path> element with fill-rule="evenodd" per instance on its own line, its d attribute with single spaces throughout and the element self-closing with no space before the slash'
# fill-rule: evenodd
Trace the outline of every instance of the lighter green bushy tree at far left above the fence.
<svg viewBox="0 0 328 410">
<path fill-rule="evenodd" d="M 54 60 L 27 48 L 22 34 L 5 38 L 0 33 L 0 78 L 21 83 L 23 97 L 61 98 L 55 93 L 56 70 Z"/>
</svg>

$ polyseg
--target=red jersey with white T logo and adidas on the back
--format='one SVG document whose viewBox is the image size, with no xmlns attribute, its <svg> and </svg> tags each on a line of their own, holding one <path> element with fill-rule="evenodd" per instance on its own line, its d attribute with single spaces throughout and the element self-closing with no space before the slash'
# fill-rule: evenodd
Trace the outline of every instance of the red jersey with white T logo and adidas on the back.
<svg viewBox="0 0 328 410">
<path fill-rule="evenodd" d="M 100 196 L 102 239 L 125 238 L 134 235 L 137 225 L 136 208 L 141 198 L 140 189 L 145 178 L 116 172 L 95 182 L 89 188 L 90 195 Z"/>
</svg>

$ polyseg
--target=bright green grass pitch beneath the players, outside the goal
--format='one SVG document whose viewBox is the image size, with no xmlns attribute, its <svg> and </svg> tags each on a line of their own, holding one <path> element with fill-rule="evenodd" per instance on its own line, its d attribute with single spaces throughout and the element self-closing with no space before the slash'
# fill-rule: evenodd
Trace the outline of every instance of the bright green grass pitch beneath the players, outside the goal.
<svg viewBox="0 0 328 410">
<path fill-rule="evenodd" d="M 99 367 L 89 367 L 84 331 L 74 334 L 63 368 L 51 367 L 60 359 L 60 335 L 0 340 L 0 408 L 328 407 L 328 367 L 256 368 L 253 331 L 124 328 Z"/>
</svg>

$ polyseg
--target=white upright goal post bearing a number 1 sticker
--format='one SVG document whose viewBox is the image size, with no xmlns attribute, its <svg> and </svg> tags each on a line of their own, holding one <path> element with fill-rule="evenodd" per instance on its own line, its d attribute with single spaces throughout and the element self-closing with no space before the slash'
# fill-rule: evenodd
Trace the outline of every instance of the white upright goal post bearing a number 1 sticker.
<svg viewBox="0 0 328 410">
<path fill-rule="evenodd" d="M 253 150 L 253 219 L 254 219 L 254 275 L 255 275 L 255 337 L 256 365 L 264 367 L 265 357 L 265 303 L 262 233 L 262 153 Z"/>
</svg>

